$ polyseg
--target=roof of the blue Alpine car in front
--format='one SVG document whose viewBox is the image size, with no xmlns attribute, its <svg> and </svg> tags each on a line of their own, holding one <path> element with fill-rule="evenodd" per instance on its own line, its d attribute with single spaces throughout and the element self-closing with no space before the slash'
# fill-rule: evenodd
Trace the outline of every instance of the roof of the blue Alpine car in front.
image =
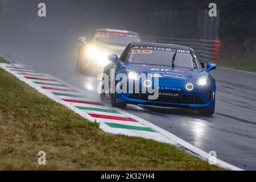
<svg viewBox="0 0 256 182">
<path fill-rule="evenodd" d="M 168 47 L 175 49 L 182 49 L 186 51 L 190 51 L 190 48 L 187 46 L 181 46 L 178 44 L 167 44 L 167 43 L 155 43 L 155 42 L 133 42 L 131 46 L 154 46 L 154 47 Z"/>
</svg>

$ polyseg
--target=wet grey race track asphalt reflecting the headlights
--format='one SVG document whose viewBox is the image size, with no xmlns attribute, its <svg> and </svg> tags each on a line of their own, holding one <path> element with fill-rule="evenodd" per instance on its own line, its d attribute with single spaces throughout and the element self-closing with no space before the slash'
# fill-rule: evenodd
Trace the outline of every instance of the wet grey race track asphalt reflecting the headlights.
<svg viewBox="0 0 256 182">
<path fill-rule="evenodd" d="M 76 72 L 74 38 L 63 44 L 31 46 L 0 43 L 0 53 L 10 60 L 30 65 L 90 92 L 97 93 L 96 75 Z M 66 43 L 65 43 L 66 41 Z M 58 46 L 56 46 L 58 45 Z M 211 72 L 217 81 L 216 113 L 201 117 L 195 110 L 129 105 L 126 111 L 154 123 L 206 152 L 216 151 L 217 158 L 242 169 L 256 169 L 256 74 L 217 68 Z M 110 102 L 106 103 L 107 105 Z"/>
</svg>

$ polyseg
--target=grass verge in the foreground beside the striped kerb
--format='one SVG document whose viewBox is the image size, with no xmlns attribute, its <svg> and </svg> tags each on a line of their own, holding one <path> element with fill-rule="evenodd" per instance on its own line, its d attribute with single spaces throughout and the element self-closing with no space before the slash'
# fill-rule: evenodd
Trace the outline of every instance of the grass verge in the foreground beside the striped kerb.
<svg viewBox="0 0 256 182">
<path fill-rule="evenodd" d="M 105 133 L 0 69 L 0 169 L 221 170 L 166 143 Z M 39 166 L 38 151 L 46 151 Z"/>
</svg>

